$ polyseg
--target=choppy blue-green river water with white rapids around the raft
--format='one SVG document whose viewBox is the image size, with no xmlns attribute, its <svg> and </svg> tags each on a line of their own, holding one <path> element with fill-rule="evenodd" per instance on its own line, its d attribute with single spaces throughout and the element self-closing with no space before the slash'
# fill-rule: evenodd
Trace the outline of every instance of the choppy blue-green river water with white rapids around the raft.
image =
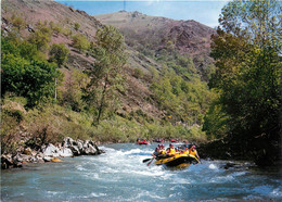
<svg viewBox="0 0 282 202">
<path fill-rule="evenodd" d="M 184 169 L 150 166 L 156 144 L 100 146 L 99 156 L 2 171 L 2 201 L 265 201 L 282 200 L 278 167 L 247 162 L 202 161 Z M 167 146 L 166 146 L 167 147 Z M 201 155 L 201 154 L 200 154 Z"/>
</svg>

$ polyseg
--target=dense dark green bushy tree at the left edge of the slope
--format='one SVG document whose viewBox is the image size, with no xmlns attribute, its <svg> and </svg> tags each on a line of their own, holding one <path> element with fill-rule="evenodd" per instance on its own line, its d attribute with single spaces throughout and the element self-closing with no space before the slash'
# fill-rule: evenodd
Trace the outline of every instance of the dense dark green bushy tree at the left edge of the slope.
<svg viewBox="0 0 282 202">
<path fill-rule="evenodd" d="M 13 92 L 27 98 L 27 106 L 35 106 L 53 94 L 53 65 L 47 62 L 27 61 L 14 54 L 3 54 L 1 60 L 1 94 Z"/>
</svg>

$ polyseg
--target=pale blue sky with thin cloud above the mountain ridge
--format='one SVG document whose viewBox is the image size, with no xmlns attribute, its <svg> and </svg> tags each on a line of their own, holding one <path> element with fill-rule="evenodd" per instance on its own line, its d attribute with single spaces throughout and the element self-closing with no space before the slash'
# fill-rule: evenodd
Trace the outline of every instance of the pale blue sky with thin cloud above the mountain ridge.
<svg viewBox="0 0 282 202">
<path fill-rule="evenodd" d="M 174 20 L 194 20 L 209 27 L 218 26 L 218 17 L 228 0 L 56 0 L 86 11 L 90 15 L 113 13 L 121 10 L 138 11 L 152 16 Z"/>
</svg>

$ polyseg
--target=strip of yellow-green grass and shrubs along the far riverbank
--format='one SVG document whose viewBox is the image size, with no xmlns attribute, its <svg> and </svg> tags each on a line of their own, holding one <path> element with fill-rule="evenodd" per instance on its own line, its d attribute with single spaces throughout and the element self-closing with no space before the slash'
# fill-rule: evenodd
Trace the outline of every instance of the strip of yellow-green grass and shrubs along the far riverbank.
<svg viewBox="0 0 282 202">
<path fill-rule="evenodd" d="M 157 121 L 138 123 L 134 118 L 128 119 L 117 115 L 102 121 L 98 126 L 93 126 L 93 116 L 86 112 L 74 112 L 68 108 L 52 103 L 40 109 L 35 108 L 22 112 L 23 103 L 22 99 L 5 99 L 3 101 L 1 138 L 2 144 L 5 143 L 5 147 L 2 150 L 10 152 L 16 150 L 20 142 L 21 146 L 30 143 L 30 141 L 37 144 L 56 143 L 62 141 L 64 137 L 92 139 L 100 143 L 134 142 L 137 138 L 205 140 L 206 137 L 198 126 L 174 126 L 169 122 Z M 15 110 L 11 105 L 16 105 L 20 110 Z M 14 111 L 18 113 L 13 113 Z M 20 119 L 18 114 L 21 114 Z M 17 123 L 13 125 L 16 127 L 9 126 L 11 123 Z M 21 140 L 23 132 L 28 136 Z"/>
</svg>

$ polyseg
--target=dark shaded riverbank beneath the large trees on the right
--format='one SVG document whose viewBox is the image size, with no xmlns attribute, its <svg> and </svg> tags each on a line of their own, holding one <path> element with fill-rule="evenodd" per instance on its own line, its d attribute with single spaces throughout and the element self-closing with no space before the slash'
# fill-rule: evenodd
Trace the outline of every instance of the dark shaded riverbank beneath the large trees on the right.
<svg viewBox="0 0 282 202">
<path fill-rule="evenodd" d="M 197 152 L 203 159 L 245 160 L 258 166 L 281 165 L 281 144 L 267 136 L 259 136 L 242 141 L 241 139 L 221 138 L 201 143 Z"/>
</svg>

